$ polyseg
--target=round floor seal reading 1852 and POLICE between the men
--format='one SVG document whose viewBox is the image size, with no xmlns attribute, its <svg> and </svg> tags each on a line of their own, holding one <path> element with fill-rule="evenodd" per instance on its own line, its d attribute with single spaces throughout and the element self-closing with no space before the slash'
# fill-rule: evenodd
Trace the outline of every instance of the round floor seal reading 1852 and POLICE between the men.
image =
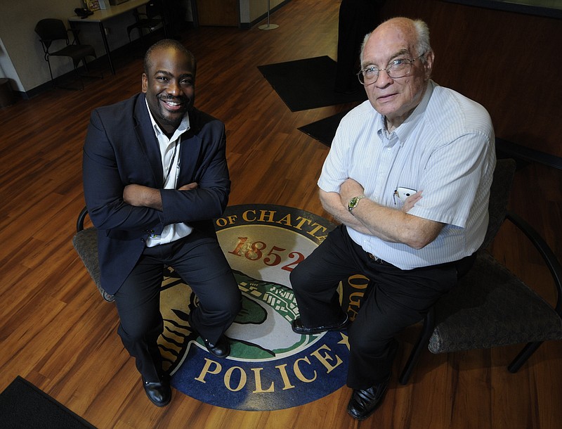
<svg viewBox="0 0 562 429">
<path fill-rule="evenodd" d="M 247 411 L 307 404 L 345 385 L 347 332 L 299 335 L 291 329 L 299 309 L 289 273 L 334 224 L 292 207 L 234 205 L 215 225 L 242 291 L 242 311 L 226 332 L 230 356 L 217 359 L 191 330 L 188 314 L 197 297 L 170 271 L 162 283 L 159 347 L 171 385 L 207 404 Z M 352 320 L 366 286 L 358 276 L 340 287 Z"/>
</svg>

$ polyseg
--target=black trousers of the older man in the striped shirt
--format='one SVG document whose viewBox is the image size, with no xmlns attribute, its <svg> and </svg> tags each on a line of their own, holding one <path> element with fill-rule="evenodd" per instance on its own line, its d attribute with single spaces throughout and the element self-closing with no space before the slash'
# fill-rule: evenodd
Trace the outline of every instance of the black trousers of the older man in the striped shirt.
<svg viewBox="0 0 562 429">
<path fill-rule="evenodd" d="M 372 287 L 349 328 L 350 359 L 347 385 L 367 389 L 386 380 L 392 371 L 397 342 L 394 336 L 417 323 L 468 271 L 473 257 L 458 262 L 403 270 L 375 262 L 338 226 L 290 279 L 304 326 L 334 324 L 343 310 L 339 282 L 353 274 L 370 279 Z M 365 299 L 366 298 L 366 299 Z"/>
</svg>

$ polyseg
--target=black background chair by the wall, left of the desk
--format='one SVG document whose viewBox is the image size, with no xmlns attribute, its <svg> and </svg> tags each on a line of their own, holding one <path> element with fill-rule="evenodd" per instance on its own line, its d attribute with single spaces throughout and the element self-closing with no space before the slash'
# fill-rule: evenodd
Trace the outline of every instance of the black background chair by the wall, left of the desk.
<svg viewBox="0 0 562 429">
<path fill-rule="evenodd" d="M 96 51 L 94 51 L 91 45 L 81 45 L 77 39 L 76 30 L 67 30 L 63 21 L 53 18 L 46 18 L 40 20 L 35 26 L 35 32 L 39 35 L 41 40 L 41 46 L 43 46 L 43 51 L 45 53 L 45 60 L 48 64 L 48 72 L 51 74 L 51 81 L 55 85 L 55 79 L 53 78 L 53 70 L 51 70 L 51 60 L 52 56 L 66 56 L 72 58 L 72 64 L 74 65 L 74 71 L 77 73 L 81 89 L 84 89 L 84 82 L 82 82 L 82 77 L 102 77 L 102 76 L 91 76 L 91 75 L 81 75 L 78 71 L 78 65 L 80 61 L 84 64 L 86 72 L 88 70 L 88 64 L 86 63 L 86 57 L 91 56 L 97 58 Z M 72 43 L 70 42 L 69 32 L 73 34 Z M 56 50 L 53 48 L 53 42 L 64 41 L 65 46 L 62 49 Z M 56 86 L 56 85 L 55 85 Z M 70 87 L 62 87 L 65 89 L 76 89 Z"/>
</svg>

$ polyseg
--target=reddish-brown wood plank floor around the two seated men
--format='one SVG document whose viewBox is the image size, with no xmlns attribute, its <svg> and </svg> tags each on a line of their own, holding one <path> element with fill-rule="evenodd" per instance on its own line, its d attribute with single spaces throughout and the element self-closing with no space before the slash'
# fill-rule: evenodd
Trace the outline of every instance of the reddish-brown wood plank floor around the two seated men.
<svg viewBox="0 0 562 429">
<path fill-rule="evenodd" d="M 327 216 L 315 182 L 328 148 L 297 128 L 351 106 L 292 113 L 256 66 L 335 59 L 338 8 L 337 0 L 293 0 L 272 15 L 276 30 L 183 33 L 199 60 L 196 104 L 226 122 L 230 204 L 289 205 Z M 152 406 L 115 332 L 115 307 L 101 300 L 71 244 L 84 205 L 81 146 L 89 114 L 141 89 L 138 51 L 116 63 L 117 75 L 105 70 L 84 91 L 53 89 L 0 110 L 0 390 L 20 375 L 98 428 L 561 427 L 561 342 L 542 345 L 516 374 L 506 366 L 518 346 L 424 352 L 410 383 L 393 380 L 384 404 L 363 423 L 346 414 L 346 387 L 280 411 L 223 409 L 178 392 L 166 408 Z M 511 196 L 511 208 L 560 259 L 561 185 L 560 170 L 528 165 Z M 493 250 L 528 284 L 551 286 L 537 255 L 511 229 L 502 230 Z M 416 333 L 412 327 L 402 336 L 396 371 Z"/>
</svg>

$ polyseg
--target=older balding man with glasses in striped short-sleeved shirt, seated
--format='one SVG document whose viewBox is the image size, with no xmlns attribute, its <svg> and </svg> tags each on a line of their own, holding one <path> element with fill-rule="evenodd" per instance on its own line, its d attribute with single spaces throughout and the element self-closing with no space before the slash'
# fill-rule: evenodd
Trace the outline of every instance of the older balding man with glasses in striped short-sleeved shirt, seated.
<svg viewBox="0 0 562 429">
<path fill-rule="evenodd" d="M 394 336 L 455 286 L 488 226 L 490 115 L 433 82 L 433 59 L 420 20 L 393 18 L 365 37 L 358 77 L 368 100 L 341 120 L 318 180 L 341 225 L 291 274 L 292 328 L 308 335 L 345 328 L 338 283 L 370 278 L 348 332 L 348 413 L 358 420 L 388 388 Z"/>
</svg>

